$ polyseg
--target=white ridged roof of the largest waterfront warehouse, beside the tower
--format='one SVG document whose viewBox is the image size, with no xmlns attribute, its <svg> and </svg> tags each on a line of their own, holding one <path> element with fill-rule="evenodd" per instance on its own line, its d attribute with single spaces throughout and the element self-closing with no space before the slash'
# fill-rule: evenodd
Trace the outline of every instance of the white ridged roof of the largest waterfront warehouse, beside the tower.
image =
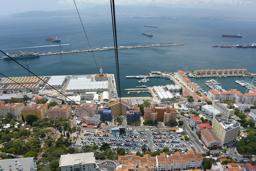
<svg viewBox="0 0 256 171">
<path fill-rule="evenodd" d="M 108 89 L 108 81 L 95 81 L 91 78 L 70 79 L 66 90 Z"/>
</svg>

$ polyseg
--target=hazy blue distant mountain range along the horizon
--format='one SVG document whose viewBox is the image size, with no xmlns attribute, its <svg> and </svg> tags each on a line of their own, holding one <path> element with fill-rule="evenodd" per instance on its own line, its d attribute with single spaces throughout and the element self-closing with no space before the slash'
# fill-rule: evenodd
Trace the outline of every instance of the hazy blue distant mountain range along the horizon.
<svg viewBox="0 0 256 171">
<path fill-rule="evenodd" d="M 139 6 L 139 5 L 116 5 L 117 16 L 204 16 L 218 18 L 253 18 L 253 12 L 241 11 L 220 11 L 212 9 L 199 8 L 163 8 L 159 6 Z M 99 5 L 92 8 L 79 9 L 80 15 L 104 16 L 111 13 L 110 6 Z M 77 15 L 75 9 L 58 10 L 58 11 L 29 11 L 19 12 L 9 15 L 8 17 L 60 17 Z"/>
</svg>

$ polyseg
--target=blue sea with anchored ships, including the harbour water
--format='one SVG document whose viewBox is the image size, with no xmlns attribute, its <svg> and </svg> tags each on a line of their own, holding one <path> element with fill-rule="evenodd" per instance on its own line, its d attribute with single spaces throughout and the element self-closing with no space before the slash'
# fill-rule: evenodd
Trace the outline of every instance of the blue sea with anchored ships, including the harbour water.
<svg viewBox="0 0 256 171">
<path fill-rule="evenodd" d="M 82 16 L 82 21 L 92 48 L 113 47 L 111 17 Z M 59 36 L 61 51 L 89 49 L 80 20 L 77 16 L 42 18 L 1 18 L 0 49 L 9 54 L 21 51 L 39 53 L 60 51 L 59 46 L 24 48 L 53 45 L 45 41 L 46 37 Z M 220 48 L 212 45 L 251 45 L 256 42 L 256 21 L 247 20 L 211 20 L 211 19 L 154 19 L 117 17 L 117 45 L 130 46 L 159 43 L 184 43 L 180 46 L 146 47 L 118 50 L 120 67 L 121 96 L 128 96 L 126 88 L 144 85 L 136 79 L 126 79 L 126 75 L 146 75 L 151 71 L 177 72 L 177 70 L 232 69 L 246 68 L 256 73 L 256 49 Z M 158 28 L 143 27 L 157 25 Z M 141 35 L 151 32 L 153 37 Z M 221 37 L 221 34 L 237 35 L 243 38 Z M 116 75 L 115 52 L 94 51 L 97 65 L 104 73 Z M 4 56 L 4 54 L 0 54 Z M 91 52 L 47 55 L 39 58 L 23 58 L 18 62 L 29 65 L 37 75 L 71 75 L 98 73 Z M 7 76 L 27 76 L 28 72 L 11 60 L 0 60 L 0 72 Z M 209 80 L 212 78 L 209 78 Z M 217 78 L 215 78 L 217 79 Z M 192 79 L 201 86 L 204 79 Z M 224 89 L 236 88 L 242 93 L 245 88 L 235 80 L 251 82 L 249 77 L 222 77 L 218 79 Z M 254 81 L 253 81 L 254 82 Z M 150 79 L 147 86 L 174 84 L 164 78 Z M 207 90 L 207 87 L 204 87 Z M 137 95 L 137 94 L 136 94 Z M 140 93 L 139 96 L 148 96 Z M 129 96 L 135 96 L 130 94 Z M 138 95 L 137 95 L 138 96 Z"/>
</svg>

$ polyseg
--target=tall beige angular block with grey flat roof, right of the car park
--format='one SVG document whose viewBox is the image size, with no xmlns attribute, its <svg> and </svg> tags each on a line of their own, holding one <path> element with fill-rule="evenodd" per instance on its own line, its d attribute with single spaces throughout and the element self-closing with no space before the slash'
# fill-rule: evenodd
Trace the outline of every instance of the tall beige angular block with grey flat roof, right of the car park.
<svg viewBox="0 0 256 171">
<path fill-rule="evenodd" d="M 223 144 L 233 142 L 238 135 L 240 123 L 236 120 L 213 117 L 212 130 Z"/>
</svg>

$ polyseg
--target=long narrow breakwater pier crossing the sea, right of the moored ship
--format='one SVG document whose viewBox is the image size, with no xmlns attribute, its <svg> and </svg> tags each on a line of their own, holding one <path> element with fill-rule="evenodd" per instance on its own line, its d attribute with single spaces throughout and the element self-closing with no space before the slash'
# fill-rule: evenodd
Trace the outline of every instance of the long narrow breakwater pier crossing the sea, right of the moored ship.
<svg viewBox="0 0 256 171">
<path fill-rule="evenodd" d="M 133 45 L 133 46 L 118 46 L 117 49 L 145 48 L 145 47 L 156 47 L 156 46 L 174 46 L 174 45 L 183 45 L 183 43 L 161 43 L 161 44 L 147 44 L 147 45 Z M 39 53 L 39 56 L 62 54 L 62 53 L 104 51 L 104 50 L 114 50 L 114 49 L 115 47 L 103 47 L 103 48 L 80 49 L 80 50 L 71 50 L 71 51 L 56 51 L 56 52 Z"/>
</svg>

